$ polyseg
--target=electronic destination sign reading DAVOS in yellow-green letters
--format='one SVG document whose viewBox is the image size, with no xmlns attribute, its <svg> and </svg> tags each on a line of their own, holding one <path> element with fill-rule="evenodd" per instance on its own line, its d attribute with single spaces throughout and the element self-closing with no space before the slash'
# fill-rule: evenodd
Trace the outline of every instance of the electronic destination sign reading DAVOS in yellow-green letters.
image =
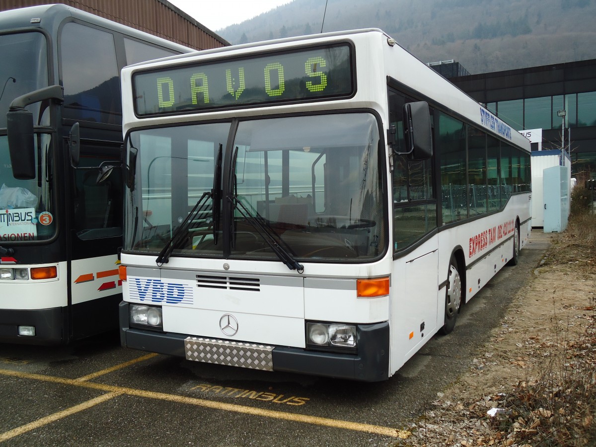
<svg viewBox="0 0 596 447">
<path fill-rule="evenodd" d="M 135 112 L 146 117 L 350 97 L 352 58 L 352 47 L 339 44 L 138 72 Z"/>
</svg>

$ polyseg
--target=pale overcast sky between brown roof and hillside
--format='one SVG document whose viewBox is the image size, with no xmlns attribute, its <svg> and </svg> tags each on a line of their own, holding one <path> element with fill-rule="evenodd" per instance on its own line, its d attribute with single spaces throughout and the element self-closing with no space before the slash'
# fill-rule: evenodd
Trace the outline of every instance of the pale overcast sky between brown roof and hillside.
<svg viewBox="0 0 596 447">
<path fill-rule="evenodd" d="M 212 31 L 240 23 L 291 0 L 168 0 Z"/>
</svg>

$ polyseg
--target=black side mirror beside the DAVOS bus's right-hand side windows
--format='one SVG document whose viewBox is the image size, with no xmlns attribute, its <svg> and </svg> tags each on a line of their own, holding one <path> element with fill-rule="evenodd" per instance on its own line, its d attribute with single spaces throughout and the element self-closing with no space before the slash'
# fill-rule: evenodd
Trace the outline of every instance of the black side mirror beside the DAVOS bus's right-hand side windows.
<svg viewBox="0 0 596 447">
<path fill-rule="evenodd" d="M 403 139 L 408 159 L 427 160 L 433 156 L 429 104 L 425 101 L 403 105 Z"/>
</svg>

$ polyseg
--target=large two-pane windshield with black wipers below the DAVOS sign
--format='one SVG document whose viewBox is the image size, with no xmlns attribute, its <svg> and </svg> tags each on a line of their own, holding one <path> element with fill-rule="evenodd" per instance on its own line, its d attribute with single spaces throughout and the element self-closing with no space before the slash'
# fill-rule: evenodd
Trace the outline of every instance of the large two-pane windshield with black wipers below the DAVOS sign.
<svg viewBox="0 0 596 447">
<path fill-rule="evenodd" d="M 233 129 L 220 170 L 220 145 Z M 172 256 L 275 260 L 274 241 L 298 260 L 369 262 L 386 250 L 378 143 L 368 113 L 132 132 L 141 188 L 133 193 L 125 247 L 159 253 L 210 193 Z"/>
</svg>

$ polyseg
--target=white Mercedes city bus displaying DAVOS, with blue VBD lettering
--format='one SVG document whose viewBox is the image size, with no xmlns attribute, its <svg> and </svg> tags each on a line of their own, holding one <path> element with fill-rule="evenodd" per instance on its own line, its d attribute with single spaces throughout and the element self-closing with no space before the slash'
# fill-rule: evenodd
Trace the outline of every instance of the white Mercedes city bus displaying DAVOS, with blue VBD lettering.
<svg viewBox="0 0 596 447">
<path fill-rule="evenodd" d="M 126 67 L 123 346 L 386 380 L 530 233 L 530 142 L 378 29 Z"/>
</svg>

